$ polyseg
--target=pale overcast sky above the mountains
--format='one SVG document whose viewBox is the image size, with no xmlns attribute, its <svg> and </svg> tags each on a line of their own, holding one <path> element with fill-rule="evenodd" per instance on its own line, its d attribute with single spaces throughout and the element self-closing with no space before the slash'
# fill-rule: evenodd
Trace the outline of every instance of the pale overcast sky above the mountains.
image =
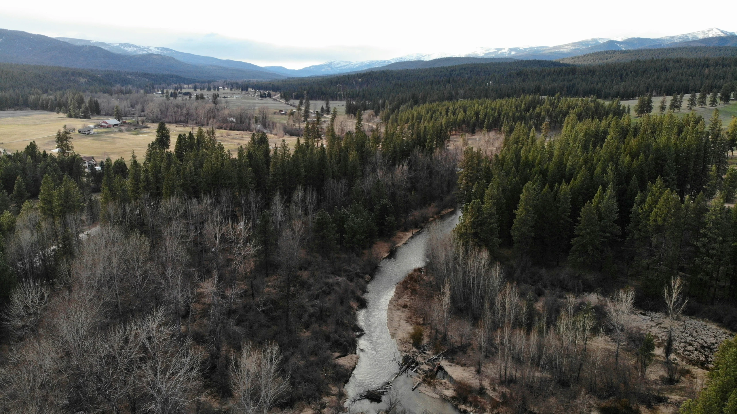
<svg viewBox="0 0 737 414">
<path fill-rule="evenodd" d="M 299 69 L 326 60 L 464 54 L 710 27 L 737 31 L 737 1 L 3 0 L 0 28 L 164 46 Z M 677 24 L 674 24 L 677 22 Z"/>
</svg>

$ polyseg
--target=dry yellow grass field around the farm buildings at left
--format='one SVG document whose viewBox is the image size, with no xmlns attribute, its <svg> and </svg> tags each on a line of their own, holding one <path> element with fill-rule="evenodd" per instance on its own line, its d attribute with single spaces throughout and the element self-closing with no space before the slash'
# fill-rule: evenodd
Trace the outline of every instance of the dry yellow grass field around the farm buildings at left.
<svg viewBox="0 0 737 414">
<path fill-rule="evenodd" d="M 282 104 L 283 105 L 283 104 Z M 105 116 L 95 116 L 93 119 L 70 119 L 63 114 L 46 111 L 12 111 L 0 112 L 0 148 L 8 152 L 23 150 L 31 141 L 35 141 L 41 150 L 55 149 L 55 135 L 66 124 L 69 128 L 80 128 L 90 124 L 97 124 Z M 192 127 L 169 124 L 172 133 L 172 147 L 178 133 L 188 133 Z M 74 133 L 74 150 L 81 155 L 93 155 L 97 160 L 107 157 L 125 159 L 130 158 L 131 150 L 142 157 L 146 147 L 155 138 L 156 124 L 130 124 L 116 128 L 99 128 L 94 135 Z M 217 140 L 228 150 L 236 151 L 239 145 L 245 145 L 251 138 L 251 133 L 244 131 L 216 130 Z M 296 137 L 287 136 L 288 143 L 293 144 Z M 276 144 L 282 140 L 276 136 L 269 136 L 270 143 Z"/>
</svg>

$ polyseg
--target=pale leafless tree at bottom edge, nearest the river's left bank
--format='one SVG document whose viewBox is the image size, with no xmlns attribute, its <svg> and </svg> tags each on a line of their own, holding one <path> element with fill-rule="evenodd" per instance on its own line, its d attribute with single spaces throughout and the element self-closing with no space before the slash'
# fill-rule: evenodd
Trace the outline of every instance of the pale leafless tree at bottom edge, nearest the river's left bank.
<svg viewBox="0 0 737 414">
<path fill-rule="evenodd" d="M 281 363 L 276 343 L 267 343 L 263 349 L 250 342 L 243 344 L 230 367 L 234 406 L 245 414 L 268 414 L 283 401 L 290 385 L 289 376 L 280 373 Z"/>
</svg>

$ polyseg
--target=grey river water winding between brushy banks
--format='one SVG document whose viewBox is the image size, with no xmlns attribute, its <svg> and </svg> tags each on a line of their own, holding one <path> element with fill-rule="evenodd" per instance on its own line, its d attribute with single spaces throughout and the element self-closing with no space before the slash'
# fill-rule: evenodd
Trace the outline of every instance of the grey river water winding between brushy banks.
<svg viewBox="0 0 737 414">
<path fill-rule="evenodd" d="M 453 230 L 460 216 L 461 211 L 456 208 L 441 217 L 439 220 L 442 231 Z M 383 410 L 386 406 L 386 396 L 382 403 L 372 403 L 365 399 L 353 402 L 352 400 L 366 390 L 380 387 L 399 371 L 397 361 L 401 356 L 397 342 L 389 335 L 387 309 L 397 284 L 413 269 L 425 265 L 426 244 L 427 232 L 419 231 L 379 264 L 374 278 L 368 283 L 368 290 L 364 295 L 366 308 L 357 313 L 358 325 L 366 333 L 358 339 L 357 354 L 360 358 L 351 379 L 346 384 L 348 395 L 346 405 L 351 413 L 371 414 Z M 399 398 L 402 407 L 408 413 L 458 413 L 447 401 L 433 399 L 420 393 L 419 390 L 413 391 L 410 373 L 397 378 L 390 393 Z M 390 393 L 387 393 L 387 396 Z"/>
</svg>

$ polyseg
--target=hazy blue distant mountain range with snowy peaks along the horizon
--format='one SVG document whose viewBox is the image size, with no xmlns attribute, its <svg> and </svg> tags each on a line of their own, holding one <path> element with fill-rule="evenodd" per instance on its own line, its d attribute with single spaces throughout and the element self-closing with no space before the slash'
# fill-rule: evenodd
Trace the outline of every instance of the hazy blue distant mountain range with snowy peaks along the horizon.
<svg viewBox="0 0 737 414">
<path fill-rule="evenodd" d="M 480 48 L 462 56 L 411 54 L 388 60 L 358 62 L 330 60 L 302 69 L 287 69 L 282 66 L 262 67 L 239 60 L 194 55 L 166 47 L 105 43 L 77 38 L 48 38 L 27 32 L 0 29 L 0 62 L 144 71 L 177 74 L 200 80 L 270 80 L 284 77 L 329 76 L 379 68 L 421 69 L 482 61 L 478 59 L 484 59 L 483 62 L 486 63 L 509 59 L 562 60 L 595 52 L 684 46 L 737 46 L 737 33 L 715 27 L 663 38 L 590 38 L 558 46 Z"/>
</svg>

